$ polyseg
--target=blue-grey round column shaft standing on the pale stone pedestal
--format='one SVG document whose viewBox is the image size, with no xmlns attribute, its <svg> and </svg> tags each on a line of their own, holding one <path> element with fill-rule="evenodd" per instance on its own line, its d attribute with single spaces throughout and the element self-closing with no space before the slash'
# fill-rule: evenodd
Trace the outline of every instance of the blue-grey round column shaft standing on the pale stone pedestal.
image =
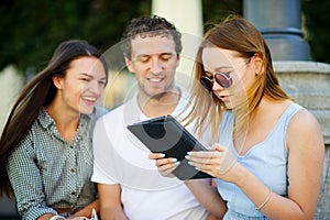
<svg viewBox="0 0 330 220">
<path fill-rule="evenodd" d="M 244 18 L 265 37 L 274 61 L 309 61 L 300 0 L 244 0 Z"/>
</svg>

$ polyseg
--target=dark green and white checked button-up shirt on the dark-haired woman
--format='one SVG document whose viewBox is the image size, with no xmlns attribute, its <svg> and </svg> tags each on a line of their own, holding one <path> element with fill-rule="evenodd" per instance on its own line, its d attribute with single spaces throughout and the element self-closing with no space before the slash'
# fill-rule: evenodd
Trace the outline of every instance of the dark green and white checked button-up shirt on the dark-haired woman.
<svg viewBox="0 0 330 220">
<path fill-rule="evenodd" d="M 84 208 L 96 199 L 96 187 L 90 182 L 94 160 L 90 128 L 95 120 L 95 116 L 81 114 L 78 130 L 68 142 L 50 114 L 44 109 L 40 111 L 7 163 L 23 219 L 57 215 L 52 208 Z"/>
</svg>

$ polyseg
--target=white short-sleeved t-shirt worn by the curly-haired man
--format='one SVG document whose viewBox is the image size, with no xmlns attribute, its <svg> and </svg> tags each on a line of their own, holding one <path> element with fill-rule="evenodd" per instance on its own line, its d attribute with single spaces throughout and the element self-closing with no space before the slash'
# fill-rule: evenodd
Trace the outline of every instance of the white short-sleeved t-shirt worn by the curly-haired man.
<svg viewBox="0 0 330 220">
<path fill-rule="evenodd" d="M 208 212 L 185 184 L 160 175 L 155 162 L 147 157 L 151 152 L 127 129 L 129 124 L 147 119 L 136 97 L 97 121 L 91 180 L 121 185 L 121 201 L 130 220 L 206 219 Z M 172 116 L 182 112 L 187 100 L 182 92 Z M 186 129 L 191 130 L 191 125 Z"/>
</svg>

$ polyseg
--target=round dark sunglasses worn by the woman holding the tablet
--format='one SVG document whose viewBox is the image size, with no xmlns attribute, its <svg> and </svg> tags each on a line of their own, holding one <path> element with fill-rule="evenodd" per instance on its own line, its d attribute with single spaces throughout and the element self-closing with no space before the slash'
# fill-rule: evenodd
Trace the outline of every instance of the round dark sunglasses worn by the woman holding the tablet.
<svg viewBox="0 0 330 220">
<path fill-rule="evenodd" d="M 245 66 L 245 64 L 248 63 L 243 63 L 239 69 Z M 199 78 L 201 86 L 209 91 L 213 91 L 215 80 L 223 88 L 229 88 L 232 85 L 232 77 L 229 75 L 229 73 L 216 73 L 215 76 L 201 76 Z"/>
</svg>

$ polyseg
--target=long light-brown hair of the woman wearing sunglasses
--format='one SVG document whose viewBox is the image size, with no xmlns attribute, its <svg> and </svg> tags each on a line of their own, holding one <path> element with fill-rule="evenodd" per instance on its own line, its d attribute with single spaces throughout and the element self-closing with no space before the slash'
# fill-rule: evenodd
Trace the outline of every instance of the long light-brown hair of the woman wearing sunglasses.
<svg viewBox="0 0 330 220">
<path fill-rule="evenodd" d="M 219 47 L 239 52 L 240 56 L 250 59 L 257 55 L 263 59 L 264 74 L 260 74 L 257 80 L 248 89 L 244 100 L 240 100 L 235 109 L 234 132 L 241 134 L 246 128 L 251 113 L 258 106 L 264 96 L 272 100 L 293 100 L 279 86 L 274 73 L 270 48 L 249 21 L 237 15 L 229 15 L 224 21 L 215 24 L 206 32 L 198 48 L 195 61 L 195 80 L 204 75 L 205 68 L 201 59 L 202 51 L 206 47 Z M 219 139 L 219 128 L 222 112 L 226 106 L 215 96 L 207 91 L 199 82 L 194 84 L 190 102 L 193 108 L 185 118 L 185 124 L 196 122 L 195 132 L 198 136 L 211 127 L 213 141 Z"/>
</svg>

